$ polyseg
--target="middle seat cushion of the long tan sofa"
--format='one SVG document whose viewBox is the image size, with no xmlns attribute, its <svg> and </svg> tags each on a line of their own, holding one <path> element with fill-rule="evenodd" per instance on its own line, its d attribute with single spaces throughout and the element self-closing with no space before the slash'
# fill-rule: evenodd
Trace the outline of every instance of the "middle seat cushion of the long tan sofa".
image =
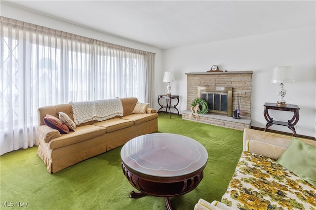
<svg viewBox="0 0 316 210">
<path fill-rule="evenodd" d="M 123 128 L 127 128 L 134 125 L 134 122 L 131 120 L 125 120 L 120 118 L 114 118 L 110 120 L 105 120 L 102 122 L 94 123 L 93 125 L 101 126 L 106 128 L 106 133 L 117 131 Z"/>
</svg>

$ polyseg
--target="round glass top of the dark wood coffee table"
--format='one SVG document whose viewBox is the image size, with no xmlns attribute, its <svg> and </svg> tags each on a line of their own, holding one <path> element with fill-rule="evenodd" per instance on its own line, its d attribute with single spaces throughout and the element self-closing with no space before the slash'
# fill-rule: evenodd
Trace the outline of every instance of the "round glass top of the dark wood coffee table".
<svg viewBox="0 0 316 210">
<path fill-rule="evenodd" d="M 205 167 L 207 151 L 198 141 L 166 133 L 147 134 L 129 140 L 120 156 L 126 168 L 144 175 L 176 177 Z"/>
</svg>

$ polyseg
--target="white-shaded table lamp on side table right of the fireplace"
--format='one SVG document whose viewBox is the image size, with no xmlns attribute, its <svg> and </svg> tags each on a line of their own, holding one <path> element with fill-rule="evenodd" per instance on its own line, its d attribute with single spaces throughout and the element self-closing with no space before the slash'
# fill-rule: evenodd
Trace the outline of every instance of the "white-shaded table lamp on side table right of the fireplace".
<svg viewBox="0 0 316 210">
<path fill-rule="evenodd" d="M 283 99 L 286 94 L 286 90 L 283 88 L 283 83 L 293 82 L 295 82 L 295 80 L 292 73 L 292 67 L 275 67 L 273 69 L 271 83 L 279 83 L 279 89 L 277 90 L 279 100 L 276 103 L 277 106 L 286 106 L 285 101 Z"/>
</svg>

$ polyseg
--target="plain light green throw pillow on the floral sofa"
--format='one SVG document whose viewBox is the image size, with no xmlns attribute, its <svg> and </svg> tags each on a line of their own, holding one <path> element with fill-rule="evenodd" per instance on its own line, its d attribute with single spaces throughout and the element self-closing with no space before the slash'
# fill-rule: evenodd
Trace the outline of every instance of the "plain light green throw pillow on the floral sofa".
<svg viewBox="0 0 316 210">
<path fill-rule="evenodd" d="M 316 187 L 316 147 L 293 139 L 277 163 Z"/>
</svg>

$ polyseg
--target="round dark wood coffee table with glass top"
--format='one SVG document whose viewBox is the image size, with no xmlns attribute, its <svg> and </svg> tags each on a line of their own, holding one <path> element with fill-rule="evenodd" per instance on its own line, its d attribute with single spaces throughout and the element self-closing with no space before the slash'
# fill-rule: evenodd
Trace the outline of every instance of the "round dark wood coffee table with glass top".
<svg viewBox="0 0 316 210">
<path fill-rule="evenodd" d="M 207 151 L 202 144 L 176 134 L 147 134 L 129 140 L 120 151 L 122 170 L 129 183 L 144 195 L 164 197 L 172 210 L 169 197 L 195 189 L 203 178 Z"/>
</svg>

